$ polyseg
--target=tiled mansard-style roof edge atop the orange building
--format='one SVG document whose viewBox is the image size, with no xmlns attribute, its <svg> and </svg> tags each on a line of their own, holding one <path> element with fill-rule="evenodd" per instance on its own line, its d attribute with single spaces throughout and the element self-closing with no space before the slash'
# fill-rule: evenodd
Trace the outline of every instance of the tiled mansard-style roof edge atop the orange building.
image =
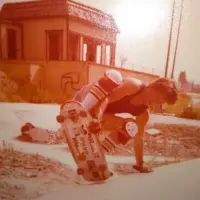
<svg viewBox="0 0 200 200">
<path fill-rule="evenodd" d="M 35 0 L 5 3 L 0 11 L 1 20 L 11 21 L 66 17 L 68 15 L 95 24 L 100 28 L 119 32 L 112 15 L 72 0 Z"/>
</svg>

